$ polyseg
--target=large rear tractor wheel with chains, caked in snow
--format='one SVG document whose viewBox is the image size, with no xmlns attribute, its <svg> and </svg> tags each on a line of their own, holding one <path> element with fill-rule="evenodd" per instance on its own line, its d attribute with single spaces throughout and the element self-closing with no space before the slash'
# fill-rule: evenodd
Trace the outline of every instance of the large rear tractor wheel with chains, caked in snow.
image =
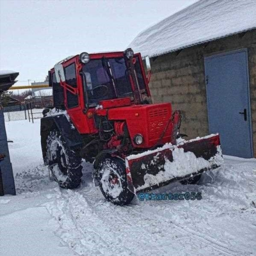
<svg viewBox="0 0 256 256">
<path fill-rule="evenodd" d="M 47 137 L 49 172 L 61 188 L 77 188 L 82 177 L 82 159 L 70 150 L 59 131 L 51 131 Z"/>
</svg>

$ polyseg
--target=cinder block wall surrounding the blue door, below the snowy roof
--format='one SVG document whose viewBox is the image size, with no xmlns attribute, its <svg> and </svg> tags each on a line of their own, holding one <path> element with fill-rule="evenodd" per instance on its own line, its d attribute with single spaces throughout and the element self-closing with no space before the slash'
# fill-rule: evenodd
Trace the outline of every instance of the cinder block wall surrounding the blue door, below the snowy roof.
<svg viewBox="0 0 256 256">
<path fill-rule="evenodd" d="M 209 134 L 204 57 L 243 48 L 248 49 L 253 152 L 256 157 L 256 29 L 152 58 L 149 86 L 154 102 L 171 102 L 173 109 L 182 111 L 182 133 L 188 134 L 189 138 Z"/>
</svg>

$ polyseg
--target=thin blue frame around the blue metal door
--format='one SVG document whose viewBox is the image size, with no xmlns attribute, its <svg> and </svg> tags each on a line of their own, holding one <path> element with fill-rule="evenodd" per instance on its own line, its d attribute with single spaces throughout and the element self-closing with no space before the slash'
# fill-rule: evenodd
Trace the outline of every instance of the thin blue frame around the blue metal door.
<svg viewBox="0 0 256 256">
<path fill-rule="evenodd" d="M 211 56 L 205 56 L 204 57 L 204 75 L 205 75 L 205 92 L 206 92 L 206 100 L 207 100 L 207 117 L 208 117 L 208 125 L 210 128 L 210 118 L 209 118 L 209 95 L 207 94 L 207 81 L 206 81 L 206 74 L 205 74 L 205 60 L 209 60 L 212 58 L 220 57 L 220 56 L 225 56 L 225 55 L 230 55 L 234 54 L 237 52 L 245 52 L 245 62 L 246 62 L 246 81 L 247 81 L 247 99 L 248 99 L 248 121 L 249 121 L 249 136 L 250 136 L 250 150 L 251 150 L 251 157 L 253 157 L 253 137 L 252 137 L 252 108 L 251 108 L 251 97 L 250 97 L 250 75 L 249 75 L 249 65 L 248 65 L 248 49 L 247 48 L 242 48 L 242 49 L 237 49 L 233 51 L 228 51 L 228 52 L 221 52 L 217 54 L 212 54 Z"/>
</svg>

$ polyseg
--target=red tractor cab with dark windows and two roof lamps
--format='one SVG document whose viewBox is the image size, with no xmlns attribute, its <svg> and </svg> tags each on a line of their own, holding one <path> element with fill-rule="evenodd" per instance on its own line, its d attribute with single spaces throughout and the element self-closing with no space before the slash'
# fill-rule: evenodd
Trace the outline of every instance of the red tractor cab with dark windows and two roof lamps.
<svg viewBox="0 0 256 256">
<path fill-rule="evenodd" d="M 82 52 L 58 62 L 49 72 L 54 107 L 67 109 L 81 134 L 95 133 L 92 115 L 102 106 L 116 108 L 152 104 L 141 54 L 124 52 L 88 54 Z M 79 116 L 79 118 L 77 118 Z"/>
</svg>

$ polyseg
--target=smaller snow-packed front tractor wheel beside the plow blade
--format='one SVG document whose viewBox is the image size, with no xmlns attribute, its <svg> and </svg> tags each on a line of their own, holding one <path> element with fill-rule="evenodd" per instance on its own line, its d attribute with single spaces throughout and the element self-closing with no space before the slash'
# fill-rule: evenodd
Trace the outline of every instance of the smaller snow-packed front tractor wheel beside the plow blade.
<svg viewBox="0 0 256 256">
<path fill-rule="evenodd" d="M 124 160 L 107 156 L 100 161 L 97 168 L 99 187 L 109 202 L 116 205 L 127 205 L 134 197 L 129 191 Z"/>
</svg>

